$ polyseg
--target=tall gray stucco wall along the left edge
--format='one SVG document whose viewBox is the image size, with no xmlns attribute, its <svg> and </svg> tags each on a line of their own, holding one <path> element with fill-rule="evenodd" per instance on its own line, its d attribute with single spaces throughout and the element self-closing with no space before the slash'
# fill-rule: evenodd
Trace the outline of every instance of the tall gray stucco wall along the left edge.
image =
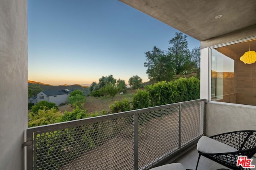
<svg viewBox="0 0 256 170">
<path fill-rule="evenodd" d="M 28 127 L 27 0 L 0 0 L 0 69 L 0 170 L 22 170 Z"/>
</svg>

